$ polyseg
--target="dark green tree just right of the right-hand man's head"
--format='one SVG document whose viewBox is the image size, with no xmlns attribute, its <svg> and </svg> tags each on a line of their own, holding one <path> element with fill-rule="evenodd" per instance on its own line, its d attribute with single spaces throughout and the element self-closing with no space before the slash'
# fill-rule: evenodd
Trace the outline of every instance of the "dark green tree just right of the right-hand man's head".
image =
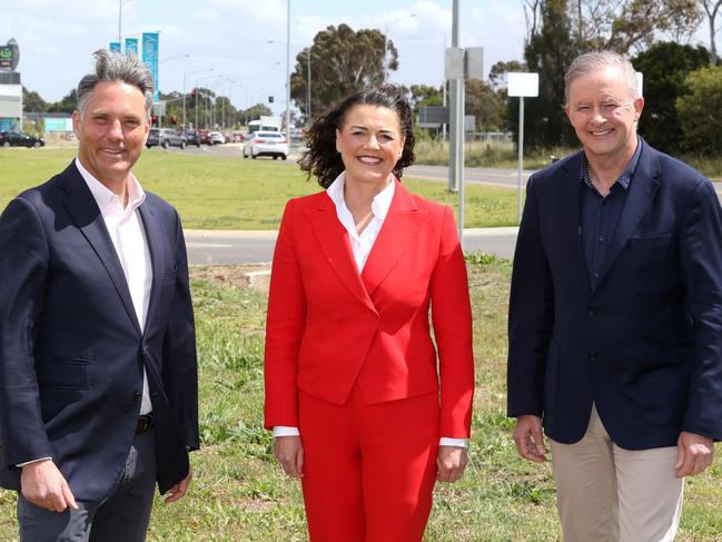
<svg viewBox="0 0 722 542">
<path fill-rule="evenodd" d="M 653 45 L 632 59 L 634 69 L 644 73 L 644 114 L 640 134 L 665 152 L 680 150 L 681 126 L 676 99 L 686 92 L 686 75 L 706 66 L 709 53 L 702 46 L 669 41 Z"/>
</svg>

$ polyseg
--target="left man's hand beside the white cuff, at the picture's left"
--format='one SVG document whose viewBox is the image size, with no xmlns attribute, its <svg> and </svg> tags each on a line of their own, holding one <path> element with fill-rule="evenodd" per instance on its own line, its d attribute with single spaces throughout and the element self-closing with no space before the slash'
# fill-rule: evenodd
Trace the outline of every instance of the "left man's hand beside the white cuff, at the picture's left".
<svg viewBox="0 0 722 542">
<path fill-rule="evenodd" d="M 21 493 L 32 504 L 51 512 L 78 510 L 68 482 L 52 460 L 36 461 L 21 469 Z"/>
</svg>

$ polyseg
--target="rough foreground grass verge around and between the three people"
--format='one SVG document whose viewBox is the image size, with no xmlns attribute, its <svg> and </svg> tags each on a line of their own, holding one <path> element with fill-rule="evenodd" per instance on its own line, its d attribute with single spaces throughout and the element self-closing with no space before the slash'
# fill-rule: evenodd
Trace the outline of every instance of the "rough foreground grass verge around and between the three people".
<svg viewBox="0 0 722 542">
<path fill-rule="evenodd" d="M 505 410 L 507 260 L 467 258 L 474 309 L 476 394 L 471 463 L 462 482 L 439 484 L 427 542 L 557 541 L 550 464 L 521 460 Z M 304 541 L 296 481 L 281 475 L 263 424 L 266 295 L 238 287 L 224 268 L 191 269 L 200 361 L 202 447 L 194 482 L 172 505 L 157 500 L 150 541 Z M 722 461 L 689 480 L 678 541 L 722 540 Z M 14 540 L 14 494 L 0 490 L 0 541 Z"/>
</svg>

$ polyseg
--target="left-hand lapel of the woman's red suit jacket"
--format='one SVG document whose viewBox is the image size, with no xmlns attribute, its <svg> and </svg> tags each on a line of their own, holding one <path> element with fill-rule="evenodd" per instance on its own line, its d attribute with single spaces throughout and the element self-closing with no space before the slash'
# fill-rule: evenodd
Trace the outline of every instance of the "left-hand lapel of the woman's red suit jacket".
<svg viewBox="0 0 722 542">
<path fill-rule="evenodd" d="M 310 210 L 308 216 L 320 249 L 338 278 L 358 300 L 376 311 L 358 275 L 348 231 L 338 220 L 334 203 L 324 194 L 319 206 Z"/>
</svg>

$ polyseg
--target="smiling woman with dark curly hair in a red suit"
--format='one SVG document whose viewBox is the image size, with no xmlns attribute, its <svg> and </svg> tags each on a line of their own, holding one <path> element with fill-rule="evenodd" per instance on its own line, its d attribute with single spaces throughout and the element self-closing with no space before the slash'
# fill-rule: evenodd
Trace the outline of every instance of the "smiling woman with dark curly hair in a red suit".
<svg viewBox="0 0 722 542">
<path fill-rule="evenodd" d="M 400 89 L 357 92 L 311 126 L 301 169 L 326 190 L 280 225 L 265 424 L 313 542 L 421 541 L 435 481 L 466 465 L 466 267 L 452 210 L 399 183 L 413 161 Z"/>
</svg>

